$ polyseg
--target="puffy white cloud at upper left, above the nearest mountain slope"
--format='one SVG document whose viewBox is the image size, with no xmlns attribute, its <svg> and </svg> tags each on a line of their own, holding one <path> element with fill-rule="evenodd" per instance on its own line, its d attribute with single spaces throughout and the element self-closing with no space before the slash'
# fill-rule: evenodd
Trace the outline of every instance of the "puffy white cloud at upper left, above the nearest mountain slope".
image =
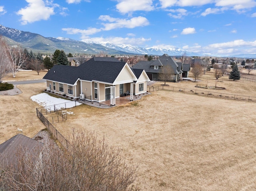
<svg viewBox="0 0 256 191">
<path fill-rule="evenodd" d="M 26 0 L 28 6 L 21 8 L 16 14 L 21 15 L 22 25 L 33 23 L 40 20 L 48 20 L 54 15 L 54 8 L 47 7 L 43 0 Z"/>
</svg>

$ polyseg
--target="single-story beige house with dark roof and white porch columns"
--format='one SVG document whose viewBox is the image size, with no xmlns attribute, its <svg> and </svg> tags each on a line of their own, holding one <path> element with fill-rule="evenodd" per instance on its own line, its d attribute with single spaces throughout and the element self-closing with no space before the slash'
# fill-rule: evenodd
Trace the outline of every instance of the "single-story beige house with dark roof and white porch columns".
<svg viewBox="0 0 256 191">
<path fill-rule="evenodd" d="M 88 101 L 110 100 L 115 105 L 124 93 L 130 100 L 146 93 L 150 79 L 144 70 L 137 72 L 114 57 L 94 57 L 78 67 L 54 65 L 43 79 L 49 91 Z"/>
</svg>

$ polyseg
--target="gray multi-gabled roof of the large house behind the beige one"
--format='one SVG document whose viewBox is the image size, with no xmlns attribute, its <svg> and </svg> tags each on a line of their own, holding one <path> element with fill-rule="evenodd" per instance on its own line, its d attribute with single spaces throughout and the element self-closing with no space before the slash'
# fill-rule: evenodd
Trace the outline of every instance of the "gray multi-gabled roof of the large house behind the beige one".
<svg viewBox="0 0 256 191">
<path fill-rule="evenodd" d="M 134 65 L 133 69 L 144 69 L 146 73 L 160 73 L 161 69 L 154 69 L 154 67 L 151 66 L 165 66 L 170 65 L 174 71 L 174 74 L 182 73 L 181 67 L 179 68 L 178 64 L 172 57 L 170 57 L 168 54 L 164 54 L 161 57 L 159 57 L 157 60 L 154 61 L 140 61 L 136 65 Z"/>
</svg>

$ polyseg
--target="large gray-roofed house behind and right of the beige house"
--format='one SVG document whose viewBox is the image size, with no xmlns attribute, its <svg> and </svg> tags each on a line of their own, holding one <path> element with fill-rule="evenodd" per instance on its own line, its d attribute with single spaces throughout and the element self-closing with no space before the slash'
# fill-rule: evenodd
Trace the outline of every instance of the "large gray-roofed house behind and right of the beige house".
<svg viewBox="0 0 256 191">
<path fill-rule="evenodd" d="M 164 54 L 157 60 L 152 61 L 140 61 L 132 67 L 132 69 L 144 69 L 150 80 L 158 80 L 158 76 L 161 73 L 161 69 L 164 66 L 171 66 L 173 73 L 171 74 L 172 81 L 177 82 L 182 79 L 183 65 L 181 62 L 176 61 L 168 54 Z M 188 69 L 190 67 L 186 67 Z M 184 75 L 188 75 L 188 71 Z"/>
</svg>

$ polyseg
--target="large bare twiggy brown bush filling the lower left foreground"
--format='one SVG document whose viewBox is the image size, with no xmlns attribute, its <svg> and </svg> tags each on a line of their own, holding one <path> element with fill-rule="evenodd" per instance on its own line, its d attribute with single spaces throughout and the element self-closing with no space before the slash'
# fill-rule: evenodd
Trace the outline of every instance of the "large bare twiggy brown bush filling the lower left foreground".
<svg viewBox="0 0 256 191">
<path fill-rule="evenodd" d="M 53 141 L 45 143 L 37 154 L 19 152 L 18 168 L 12 163 L 0 163 L 0 187 L 2 184 L 20 191 L 132 189 L 129 185 L 136 179 L 138 165 L 127 163 L 120 149 L 108 146 L 94 132 L 74 129 L 70 142 L 71 152 L 60 149 Z"/>
</svg>

